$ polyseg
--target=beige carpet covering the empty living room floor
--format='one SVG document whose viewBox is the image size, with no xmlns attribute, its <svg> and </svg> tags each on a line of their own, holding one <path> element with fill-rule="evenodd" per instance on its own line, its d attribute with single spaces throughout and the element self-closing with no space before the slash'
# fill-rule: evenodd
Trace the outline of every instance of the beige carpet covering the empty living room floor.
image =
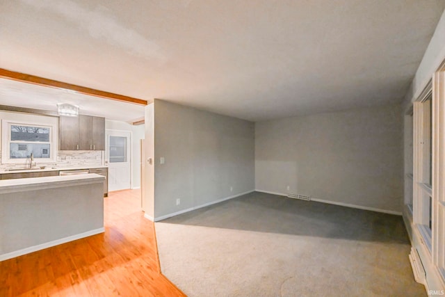
<svg viewBox="0 0 445 297">
<path fill-rule="evenodd" d="M 188 296 L 426 296 L 400 216 L 250 193 L 155 226 Z"/>
</svg>

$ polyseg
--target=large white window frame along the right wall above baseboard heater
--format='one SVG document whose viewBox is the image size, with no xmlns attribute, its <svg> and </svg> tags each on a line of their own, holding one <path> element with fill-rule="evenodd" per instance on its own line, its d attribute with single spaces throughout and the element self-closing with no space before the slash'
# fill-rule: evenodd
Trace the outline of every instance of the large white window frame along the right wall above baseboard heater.
<svg viewBox="0 0 445 297">
<path fill-rule="evenodd" d="M 432 95 L 431 124 L 425 121 L 422 103 Z M 429 184 L 429 170 L 425 162 L 429 158 L 429 147 L 423 145 L 429 128 L 432 129 L 432 179 Z M 442 276 L 445 284 L 445 62 L 433 74 L 432 82 L 419 99 L 414 102 L 414 200 L 413 222 L 428 246 L 430 263 Z M 428 150 L 428 152 L 427 152 Z M 429 216 L 429 204 L 425 195 L 431 197 L 431 230 L 428 232 L 426 218 Z M 428 207 L 428 209 L 427 209 Z M 428 211 L 428 215 L 426 214 Z"/>
</svg>

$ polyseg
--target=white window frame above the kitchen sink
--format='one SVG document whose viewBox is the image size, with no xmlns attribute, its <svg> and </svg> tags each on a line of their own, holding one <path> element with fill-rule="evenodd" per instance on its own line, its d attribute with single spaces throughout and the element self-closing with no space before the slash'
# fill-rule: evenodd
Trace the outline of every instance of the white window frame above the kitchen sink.
<svg viewBox="0 0 445 297">
<path fill-rule="evenodd" d="M 3 164 L 17 164 L 17 163 L 29 163 L 29 159 L 10 159 L 10 126 L 33 126 L 49 128 L 49 158 L 38 158 L 35 162 L 55 162 L 57 156 L 57 133 L 58 129 L 56 125 L 51 125 L 47 122 L 26 122 L 15 120 L 1 120 L 1 163 Z M 13 143 L 16 143 L 13 141 Z"/>
</svg>

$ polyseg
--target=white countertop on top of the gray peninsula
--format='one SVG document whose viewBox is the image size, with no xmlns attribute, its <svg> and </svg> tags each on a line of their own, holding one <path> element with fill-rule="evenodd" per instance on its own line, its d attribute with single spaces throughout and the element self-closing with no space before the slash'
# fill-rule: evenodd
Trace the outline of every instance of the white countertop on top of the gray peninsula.
<svg viewBox="0 0 445 297">
<path fill-rule="evenodd" d="M 105 177 L 96 173 L 85 175 L 64 175 L 54 177 L 29 177 L 21 179 L 0 180 L 0 193 L 30 191 L 30 189 L 55 188 L 72 184 L 103 183 Z"/>
</svg>

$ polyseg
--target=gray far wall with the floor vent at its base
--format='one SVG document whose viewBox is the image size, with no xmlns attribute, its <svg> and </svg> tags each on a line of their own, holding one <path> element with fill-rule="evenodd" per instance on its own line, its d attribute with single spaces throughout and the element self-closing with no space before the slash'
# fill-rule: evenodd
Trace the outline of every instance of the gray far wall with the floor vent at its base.
<svg viewBox="0 0 445 297">
<path fill-rule="evenodd" d="M 401 211 L 401 106 L 255 124 L 255 188 Z"/>
</svg>

